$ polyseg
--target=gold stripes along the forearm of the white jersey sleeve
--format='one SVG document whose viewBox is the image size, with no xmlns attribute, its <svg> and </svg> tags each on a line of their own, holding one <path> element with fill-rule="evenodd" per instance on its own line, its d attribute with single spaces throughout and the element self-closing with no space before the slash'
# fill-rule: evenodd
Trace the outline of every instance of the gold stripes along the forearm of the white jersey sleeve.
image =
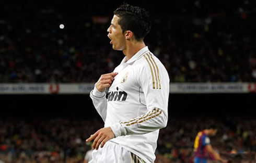
<svg viewBox="0 0 256 163">
<path fill-rule="evenodd" d="M 141 116 L 140 118 L 135 118 L 135 119 L 132 119 L 128 122 L 121 122 L 121 123 L 122 124 L 128 123 L 128 124 L 126 124 L 126 126 L 131 126 L 133 124 L 142 123 L 142 122 L 145 122 L 145 121 L 150 120 L 152 118 L 158 117 L 160 114 L 162 114 L 162 110 L 160 110 L 158 108 L 154 108 L 153 110 L 150 110 L 148 112 L 148 114 L 143 115 L 143 117 Z"/>
</svg>

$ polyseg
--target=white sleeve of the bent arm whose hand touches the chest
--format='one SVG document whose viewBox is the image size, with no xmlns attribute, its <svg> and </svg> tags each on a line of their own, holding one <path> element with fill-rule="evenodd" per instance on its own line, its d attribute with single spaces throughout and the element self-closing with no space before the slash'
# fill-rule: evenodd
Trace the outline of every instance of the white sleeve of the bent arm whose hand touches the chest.
<svg viewBox="0 0 256 163">
<path fill-rule="evenodd" d="M 107 116 L 106 93 L 98 91 L 95 85 L 94 90 L 90 92 L 90 98 L 92 99 L 92 103 L 94 104 L 98 114 L 103 119 L 103 121 L 105 121 Z"/>
</svg>

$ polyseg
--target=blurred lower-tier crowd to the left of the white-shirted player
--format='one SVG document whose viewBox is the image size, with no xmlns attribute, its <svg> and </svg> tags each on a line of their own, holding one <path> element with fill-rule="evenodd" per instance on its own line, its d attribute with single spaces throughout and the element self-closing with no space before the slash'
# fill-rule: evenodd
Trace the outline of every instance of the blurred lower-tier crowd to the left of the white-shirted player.
<svg viewBox="0 0 256 163">
<path fill-rule="evenodd" d="M 98 120 L 6 119 L 0 122 L 0 162 L 82 162 L 85 140 L 102 128 Z"/>
</svg>

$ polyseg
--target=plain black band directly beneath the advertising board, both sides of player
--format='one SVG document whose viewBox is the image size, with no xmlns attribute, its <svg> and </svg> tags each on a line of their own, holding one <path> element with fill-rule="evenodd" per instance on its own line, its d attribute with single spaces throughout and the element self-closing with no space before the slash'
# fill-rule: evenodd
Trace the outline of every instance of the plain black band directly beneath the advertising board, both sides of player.
<svg viewBox="0 0 256 163">
<path fill-rule="evenodd" d="M 0 95 L 1 117 L 99 118 L 85 95 Z M 255 93 L 170 94 L 169 117 L 255 117 Z"/>
</svg>

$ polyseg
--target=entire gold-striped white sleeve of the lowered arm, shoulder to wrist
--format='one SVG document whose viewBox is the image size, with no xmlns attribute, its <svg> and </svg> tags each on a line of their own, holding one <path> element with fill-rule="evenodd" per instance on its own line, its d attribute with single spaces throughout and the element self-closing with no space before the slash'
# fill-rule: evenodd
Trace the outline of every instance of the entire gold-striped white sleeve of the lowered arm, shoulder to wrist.
<svg viewBox="0 0 256 163">
<path fill-rule="evenodd" d="M 153 59 L 144 58 L 144 65 L 135 77 L 144 92 L 147 112 L 129 121 L 120 121 L 111 126 L 115 137 L 131 134 L 146 134 L 166 127 L 168 121 L 169 76 L 165 67 Z"/>
</svg>

